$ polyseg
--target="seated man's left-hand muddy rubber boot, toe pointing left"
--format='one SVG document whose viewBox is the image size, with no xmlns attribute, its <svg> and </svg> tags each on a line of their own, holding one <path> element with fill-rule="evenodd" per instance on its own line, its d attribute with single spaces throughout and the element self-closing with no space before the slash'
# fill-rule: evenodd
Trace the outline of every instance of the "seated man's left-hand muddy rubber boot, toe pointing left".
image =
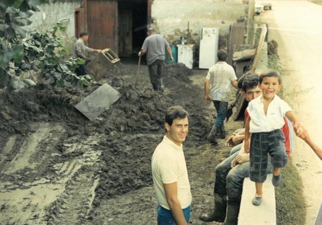
<svg viewBox="0 0 322 225">
<path fill-rule="evenodd" d="M 214 193 L 214 199 L 215 199 L 214 210 L 209 214 L 203 213 L 199 217 L 199 220 L 204 222 L 212 222 L 212 221 L 223 222 L 225 220 L 226 207 L 227 207 L 226 196 L 227 195 L 222 196 L 217 193 Z"/>
</svg>

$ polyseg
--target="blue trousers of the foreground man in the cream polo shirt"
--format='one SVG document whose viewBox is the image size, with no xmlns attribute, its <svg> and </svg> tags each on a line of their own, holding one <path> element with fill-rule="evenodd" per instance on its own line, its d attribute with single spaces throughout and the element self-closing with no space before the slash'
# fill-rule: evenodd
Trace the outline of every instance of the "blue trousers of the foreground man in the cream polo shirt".
<svg viewBox="0 0 322 225">
<path fill-rule="evenodd" d="M 186 219 L 186 222 L 189 223 L 190 220 L 190 206 L 185 209 L 182 209 L 183 216 Z M 164 209 L 160 204 L 157 207 L 158 214 L 158 225 L 176 225 L 176 222 L 172 216 L 170 210 Z"/>
</svg>

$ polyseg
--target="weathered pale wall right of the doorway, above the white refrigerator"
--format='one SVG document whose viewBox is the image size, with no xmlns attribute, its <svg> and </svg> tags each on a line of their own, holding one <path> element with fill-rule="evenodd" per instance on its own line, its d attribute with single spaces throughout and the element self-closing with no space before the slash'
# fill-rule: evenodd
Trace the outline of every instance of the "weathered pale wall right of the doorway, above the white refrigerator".
<svg viewBox="0 0 322 225">
<path fill-rule="evenodd" d="M 219 39 L 227 37 L 229 25 L 246 18 L 247 9 L 245 0 L 153 0 L 151 14 L 154 28 L 174 44 L 187 34 L 189 21 L 189 43 L 199 45 L 202 27 L 218 27 Z"/>
</svg>

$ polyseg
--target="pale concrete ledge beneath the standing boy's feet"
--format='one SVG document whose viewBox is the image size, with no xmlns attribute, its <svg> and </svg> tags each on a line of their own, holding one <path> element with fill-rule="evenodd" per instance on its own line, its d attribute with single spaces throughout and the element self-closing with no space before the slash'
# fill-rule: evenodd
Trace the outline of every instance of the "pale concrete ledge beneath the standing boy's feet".
<svg viewBox="0 0 322 225">
<path fill-rule="evenodd" d="M 275 190 L 268 174 L 263 184 L 263 198 L 260 206 L 254 206 L 255 183 L 245 178 L 239 210 L 238 225 L 276 225 Z"/>
</svg>

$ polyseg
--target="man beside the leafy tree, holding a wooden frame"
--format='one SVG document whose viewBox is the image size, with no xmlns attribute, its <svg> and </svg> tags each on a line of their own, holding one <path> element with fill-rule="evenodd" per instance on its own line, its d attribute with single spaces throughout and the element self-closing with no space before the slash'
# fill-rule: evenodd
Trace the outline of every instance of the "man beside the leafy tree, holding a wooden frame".
<svg viewBox="0 0 322 225">
<path fill-rule="evenodd" d="M 84 59 L 85 61 L 88 61 L 89 58 L 86 56 L 87 52 L 102 52 L 101 49 L 93 49 L 85 45 L 85 42 L 88 40 L 88 33 L 82 32 L 79 35 L 79 39 L 75 42 L 74 45 L 74 56 L 76 58 Z M 75 70 L 77 76 L 84 76 L 87 74 L 85 64 L 79 65 L 79 67 Z"/>
</svg>

